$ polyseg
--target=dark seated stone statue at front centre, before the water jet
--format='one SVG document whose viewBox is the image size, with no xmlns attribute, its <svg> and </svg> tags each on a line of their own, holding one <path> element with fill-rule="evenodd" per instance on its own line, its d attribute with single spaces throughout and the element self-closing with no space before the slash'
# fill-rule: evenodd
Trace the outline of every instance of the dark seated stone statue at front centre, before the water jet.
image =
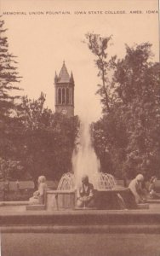
<svg viewBox="0 0 160 256">
<path fill-rule="evenodd" d="M 94 186 L 89 177 L 82 177 L 82 185 L 77 189 L 77 207 L 94 207 Z"/>
</svg>

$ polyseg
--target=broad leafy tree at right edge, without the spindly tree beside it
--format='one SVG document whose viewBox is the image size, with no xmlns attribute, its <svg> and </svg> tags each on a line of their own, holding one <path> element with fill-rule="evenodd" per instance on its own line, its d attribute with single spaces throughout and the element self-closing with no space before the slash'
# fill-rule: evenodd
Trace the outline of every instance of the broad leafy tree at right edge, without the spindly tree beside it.
<svg viewBox="0 0 160 256">
<path fill-rule="evenodd" d="M 151 44 L 126 45 L 114 77 L 129 137 L 125 169 L 130 176 L 136 172 L 159 176 L 160 63 L 152 63 L 151 56 Z"/>
</svg>

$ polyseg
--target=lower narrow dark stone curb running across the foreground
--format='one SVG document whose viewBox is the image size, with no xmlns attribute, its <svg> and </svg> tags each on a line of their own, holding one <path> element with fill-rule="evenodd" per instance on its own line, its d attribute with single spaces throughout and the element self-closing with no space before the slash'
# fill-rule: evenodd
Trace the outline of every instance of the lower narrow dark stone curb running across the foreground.
<svg viewBox="0 0 160 256">
<path fill-rule="evenodd" d="M 160 234 L 160 225 L 28 225 L 3 226 L 1 233 L 55 233 L 55 234 Z"/>
</svg>

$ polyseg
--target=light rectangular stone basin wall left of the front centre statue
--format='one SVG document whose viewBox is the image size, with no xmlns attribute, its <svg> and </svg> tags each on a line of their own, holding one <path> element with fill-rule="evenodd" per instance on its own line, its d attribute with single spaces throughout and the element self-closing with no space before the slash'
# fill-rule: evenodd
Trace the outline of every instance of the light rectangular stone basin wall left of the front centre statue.
<svg viewBox="0 0 160 256">
<path fill-rule="evenodd" d="M 75 191 L 48 190 L 47 211 L 71 210 L 75 207 Z"/>
</svg>

